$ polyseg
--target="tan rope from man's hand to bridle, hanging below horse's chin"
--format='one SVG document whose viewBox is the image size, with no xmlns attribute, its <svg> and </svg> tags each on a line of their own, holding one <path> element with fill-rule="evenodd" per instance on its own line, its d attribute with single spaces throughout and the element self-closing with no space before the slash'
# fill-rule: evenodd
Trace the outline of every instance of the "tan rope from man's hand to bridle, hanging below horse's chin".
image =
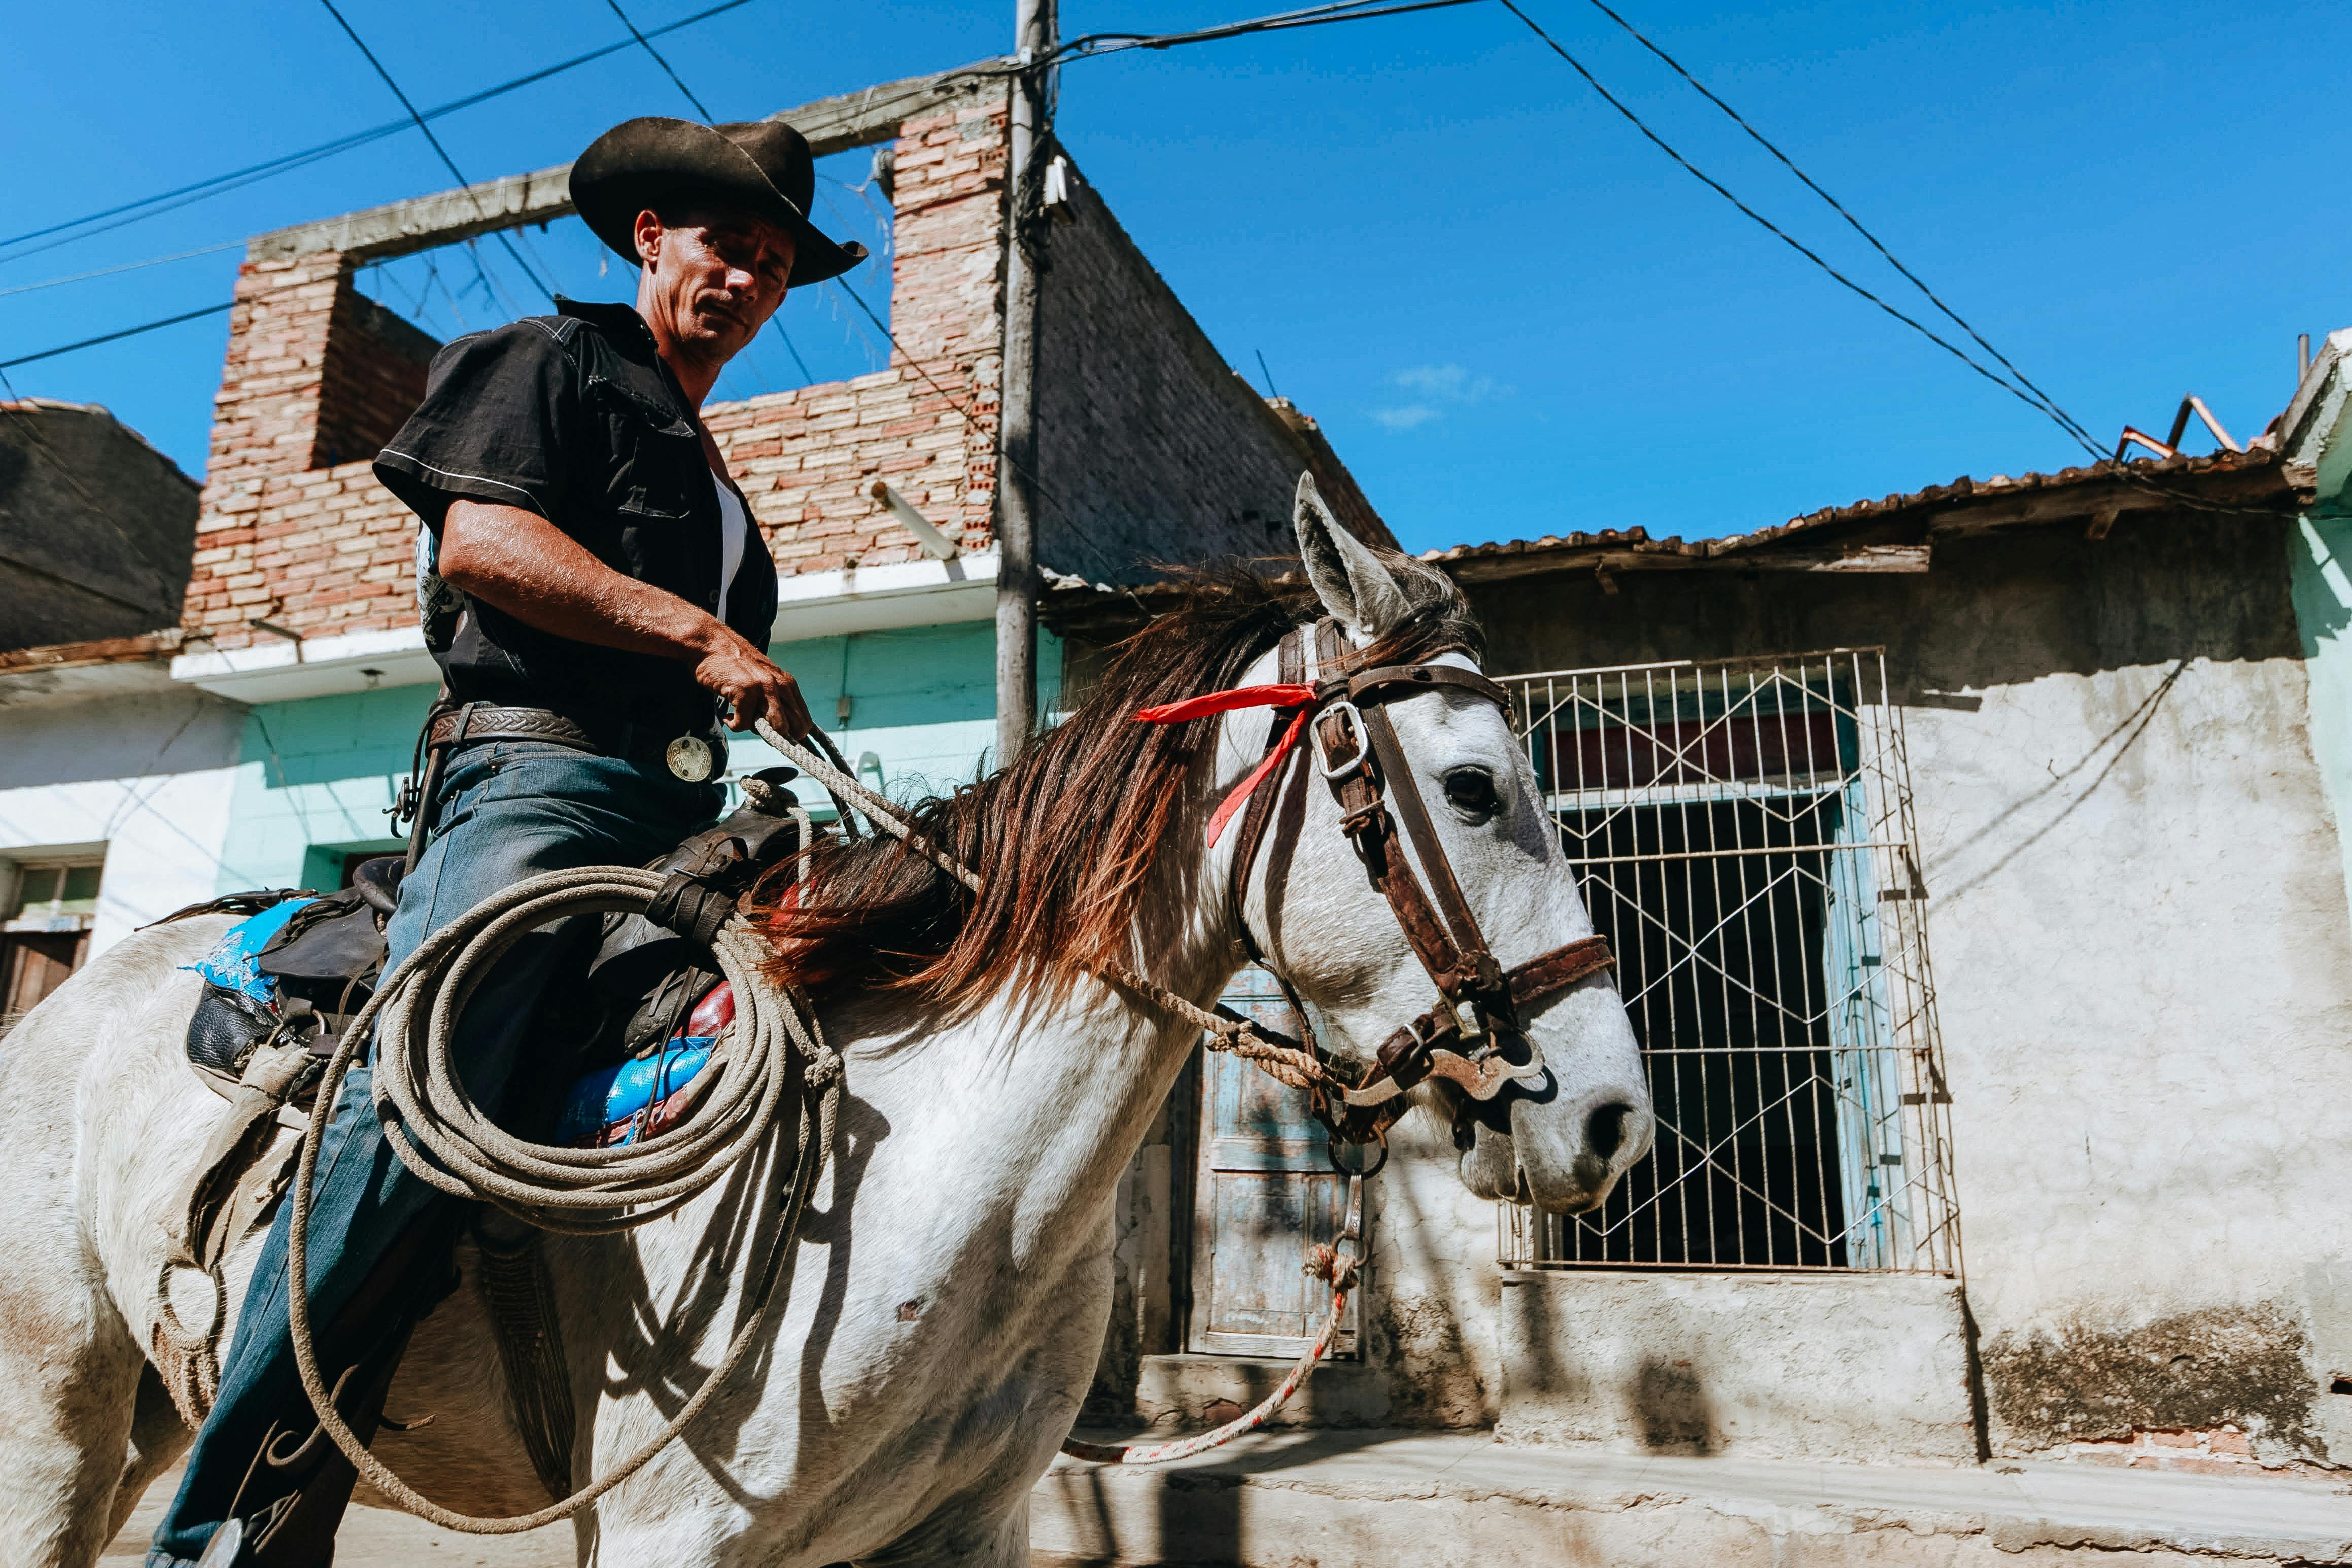
<svg viewBox="0 0 2352 1568">
<path fill-rule="evenodd" d="M 833 799 L 840 802 L 844 811 L 849 804 L 856 804 L 856 809 L 866 816 L 868 823 L 882 827 L 882 832 L 889 832 L 910 851 L 920 853 L 924 860 L 948 872 L 974 893 L 981 891 L 981 877 L 969 865 L 964 865 L 941 846 L 931 844 L 931 839 L 915 832 L 913 823 L 898 816 L 898 809 L 891 802 L 882 799 L 880 795 L 861 785 L 856 778 L 851 778 L 842 769 L 818 757 L 811 748 L 800 745 L 795 741 L 786 741 L 783 733 L 776 731 L 767 719 L 755 719 L 753 729 L 788 762 L 797 764 L 804 773 L 816 778 L 816 783 L 826 785 L 826 790 L 833 792 Z M 1155 980 L 1145 980 L 1124 964 L 1112 964 L 1103 969 L 1103 978 L 1110 980 L 1112 985 L 1120 985 L 1122 990 L 1131 990 L 1141 997 L 1152 999 L 1169 1013 L 1176 1013 L 1185 1023 L 1207 1032 L 1207 1041 L 1202 1044 L 1207 1044 L 1211 1051 L 1230 1051 L 1232 1056 L 1254 1063 L 1261 1072 L 1265 1072 L 1279 1084 L 1287 1084 L 1291 1088 L 1324 1088 L 1324 1091 L 1345 1088 L 1343 1084 L 1338 1084 L 1338 1079 L 1331 1077 L 1331 1070 L 1324 1067 L 1312 1051 L 1303 1051 L 1296 1046 L 1277 1046 L 1275 1041 L 1258 1034 L 1247 1018 L 1225 1018 L 1221 1013 L 1211 1013 L 1209 1009 L 1195 1004 L 1192 999 L 1181 997 Z M 1348 1293 L 1355 1288 L 1357 1274 L 1364 1262 L 1362 1237 L 1364 1237 L 1364 1178 L 1348 1175 L 1348 1222 L 1341 1227 L 1338 1241 L 1334 1246 L 1315 1248 L 1305 1269 L 1308 1274 L 1331 1284 L 1331 1314 L 1324 1319 L 1322 1333 L 1315 1335 L 1315 1342 L 1308 1347 L 1308 1354 L 1298 1359 L 1298 1363 L 1289 1371 L 1289 1375 L 1279 1382 L 1279 1387 L 1275 1387 L 1272 1394 L 1261 1399 L 1256 1408 L 1247 1410 L 1244 1415 L 1237 1415 L 1235 1420 L 1225 1422 L 1223 1427 L 1216 1427 L 1214 1432 L 1202 1432 L 1200 1436 L 1178 1439 L 1174 1443 L 1105 1446 L 1105 1443 L 1082 1443 L 1075 1436 L 1070 1436 L 1063 1439 L 1061 1450 L 1073 1460 L 1091 1460 L 1096 1465 L 1167 1465 L 1171 1460 L 1192 1458 L 1195 1453 L 1223 1448 L 1244 1432 L 1256 1432 L 1261 1425 L 1265 1425 L 1265 1420 L 1275 1410 L 1289 1403 L 1291 1394 L 1298 1392 L 1298 1385 L 1308 1380 L 1308 1373 L 1315 1371 L 1315 1363 L 1322 1361 L 1324 1352 L 1331 1347 L 1331 1340 L 1338 1335 L 1341 1321 L 1345 1319 L 1348 1312 Z"/>
</svg>

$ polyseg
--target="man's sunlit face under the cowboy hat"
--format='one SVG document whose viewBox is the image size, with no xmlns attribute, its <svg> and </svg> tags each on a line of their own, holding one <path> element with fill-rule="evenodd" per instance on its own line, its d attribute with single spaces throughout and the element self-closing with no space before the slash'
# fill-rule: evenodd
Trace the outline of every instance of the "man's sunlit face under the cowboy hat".
<svg viewBox="0 0 2352 1568">
<path fill-rule="evenodd" d="M 743 212 L 682 207 L 637 214 L 640 313 L 663 317 L 694 360 L 731 360 L 783 303 L 793 235 Z"/>
</svg>

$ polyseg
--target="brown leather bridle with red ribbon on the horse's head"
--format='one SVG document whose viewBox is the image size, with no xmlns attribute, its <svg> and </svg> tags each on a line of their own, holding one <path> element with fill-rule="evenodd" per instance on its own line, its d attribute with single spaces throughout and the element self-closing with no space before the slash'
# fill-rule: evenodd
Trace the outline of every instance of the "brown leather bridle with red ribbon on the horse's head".
<svg viewBox="0 0 2352 1568">
<path fill-rule="evenodd" d="M 1331 672 L 1315 682 L 1308 679 L 1310 635 L 1315 637 L 1315 668 Z M 1437 654 L 1451 651 L 1468 649 L 1437 649 Z M 1609 952 L 1609 938 L 1588 936 L 1515 969 L 1503 969 L 1496 961 L 1477 917 L 1470 912 L 1470 900 L 1463 898 L 1461 882 L 1454 877 L 1454 865 L 1446 860 L 1444 842 L 1421 799 L 1421 788 L 1414 783 L 1397 726 L 1388 717 L 1388 703 L 1437 689 L 1465 691 L 1508 715 L 1510 693 L 1477 670 L 1456 665 L 1411 663 L 1348 672 L 1350 654 L 1338 623 L 1317 621 L 1282 639 L 1277 684 L 1237 686 L 1145 708 L 1136 719 L 1178 724 L 1237 708 L 1275 710 L 1265 757 L 1209 818 L 1209 842 L 1216 844 L 1235 811 L 1242 811 L 1242 837 L 1235 842 L 1225 903 L 1249 957 L 1261 964 L 1265 957 L 1242 917 L 1242 898 L 1265 846 L 1277 802 L 1301 762 L 1301 750 L 1308 752 L 1315 771 L 1329 785 L 1341 809 L 1341 830 L 1355 844 L 1371 886 L 1388 898 L 1406 945 L 1437 987 L 1437 1006 L 1390 1032 L 1376 1051 L 1374 1067 L 1352 1086 L 1334 1072 L 1336 1058 L 1315 1039 L 1305 1004 L 1279 973 L 1275 978 L 1291 1001 L 1305 1041 L 1294 1041 L 1256 1020 L 1242 1020 L 1223 1006 L 1218 1013 L 1282 1046 L 1310 1051 L 1322 1063 L 1322 1081 L 1310 1084 L 1308 1093 L 1315 1117 L 1334 1143 L 1385 1145 L 1388 1128 L 1409 1107 L 1406 1091 L 1428 1079 L 1444 1079 L 1468 1095 L 1463 1117 L 1456 1119 L 1461 1121 L 1501 1095 L 1505 1086 L 1543 1077 L 1543 1051 L 1526 1034 L 1522 1009 L 1564 992 L 1609 969 L 1616 959 Z M 1301 748 L 1301 738 L 1308 736 L 1308 748 Z M 1414 872 L 1404 853 L 1404 839 L 1411 839 L 1421 875 Z M 1272 907 L 1275 893 L 1277 889 L 1270 884 L 1268 907 Z M 1272 971 L 1270 964 L 1265 969 Z M 1336 1159 L 1334 1154 L 1334 1164 Z"/>
</svg>

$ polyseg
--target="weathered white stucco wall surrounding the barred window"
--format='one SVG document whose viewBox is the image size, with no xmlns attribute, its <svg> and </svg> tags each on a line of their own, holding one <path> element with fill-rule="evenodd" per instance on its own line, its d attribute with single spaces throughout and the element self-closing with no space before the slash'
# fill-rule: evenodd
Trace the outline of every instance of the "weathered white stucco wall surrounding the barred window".
<svg viewBox="0 0 2352 1568">
<path fill-rule="evenodd" d="M 2352 1462 L 2331 1392 L 2352 1375 L 2352 910 L 2293 538 L 2143 517 L 1943 541 L 1919 576 L 1477 595 L 1501 670 L 1889 649 L 1952 1091 L 1952 1309 L 1994 1453 L 2237 1427 L 2267 1460 Z M 1399 1150 L 1383 1178 L 1374 1312 L 1451 1316 L 1458 1347 L 1418 1333 L 1395 1373 L 1498 1408 L 1526 1331 L 1496 1316 L 1494 1215 L 1449 1154 Z M 1785 1361 L 1771 1314 L 1750 1333 L 1757 1366 Z M 1818 1378 L 1837 1420 L 1835 1359 Z"/>
</svg>

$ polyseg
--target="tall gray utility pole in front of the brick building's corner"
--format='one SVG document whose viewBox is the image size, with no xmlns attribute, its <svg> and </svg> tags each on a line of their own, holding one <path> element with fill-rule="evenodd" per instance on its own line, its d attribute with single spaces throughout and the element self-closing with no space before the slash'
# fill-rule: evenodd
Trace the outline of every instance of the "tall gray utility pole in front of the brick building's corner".
<svg viewBox="0 0 2352 1568">
<path fill-rule="evenodd" d="M 1056 0 L 1014 0 L 1021 63 L 1044 59 L 1056 38 Z M 1040 153 L 1054 134 L 1047 73 L 1014 78 L 1011 200 L 1004 223 L 1004 395 L 997 461 L 997 766 L 1011 762 L 1037 722 L 1037 256 L 1033 223 L 1044 179 Z"/>
</svg>

